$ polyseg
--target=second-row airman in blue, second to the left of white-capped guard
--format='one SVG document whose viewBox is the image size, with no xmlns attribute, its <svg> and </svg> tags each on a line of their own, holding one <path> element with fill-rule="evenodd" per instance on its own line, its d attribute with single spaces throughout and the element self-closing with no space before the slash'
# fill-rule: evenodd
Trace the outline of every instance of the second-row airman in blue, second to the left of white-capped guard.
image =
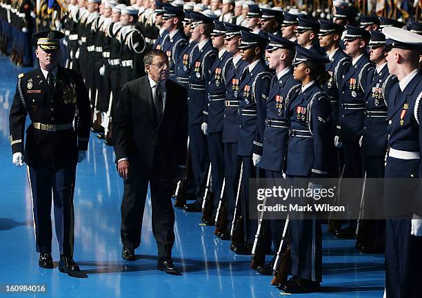
<svg viewBox="0 0 422 298">
<path fill-rule="evenodd" d="M 354 26 L 346 26 L 346 28 L 345 54 L 348 54 L 352 61 L 344 66 L 339 66 L 336 70 L 340 108 L 334 145 L 343 148 L 345 163 L 343 177 L 361 178 L 363 170 L 359 139 L 362 135 L 363 118 L 365 117 L 365 91 L 362 89 L 361 80 L 363 74 L 374 68 L 366 50 L 371 34 L 363 28 Z M 345 201 L 353 203 L 355 207 L 359 206 L 356 202 L 361 200 L 361 195 L 358 192 L 347 192 L 344 198 Z M 359 212 L 353 208 L 349 209 L 351 212 Z M 356 220 L 351 220 L 350 225 L 340 230 L 336 236 L 351 239 L 354 237 L 355 230 Z"/>
</svg>

